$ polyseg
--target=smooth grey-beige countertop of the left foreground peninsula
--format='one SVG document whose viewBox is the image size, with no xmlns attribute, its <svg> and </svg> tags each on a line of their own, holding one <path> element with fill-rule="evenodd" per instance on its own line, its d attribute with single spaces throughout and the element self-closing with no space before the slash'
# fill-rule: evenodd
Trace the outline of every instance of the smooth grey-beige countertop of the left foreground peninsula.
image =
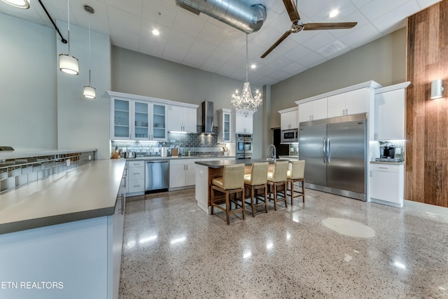
<svg viewBox="0 0 448 299">
<path fill-rule="evenodd" d="M 125 164 L 92 161 L 0 195 L 0 233 L 112 215 Z"/>
</svg>

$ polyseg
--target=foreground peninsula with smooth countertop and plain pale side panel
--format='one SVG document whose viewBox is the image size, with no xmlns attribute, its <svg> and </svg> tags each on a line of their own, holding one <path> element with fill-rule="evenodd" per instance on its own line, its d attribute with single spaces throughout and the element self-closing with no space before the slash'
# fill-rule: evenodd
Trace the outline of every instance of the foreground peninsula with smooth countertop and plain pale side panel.
<svg viewBox="0 0 448 299">
<path fill-rule="evenodd" d="M 92 161 L 0 195 L 0 298 L 118 298 L 125 165 Z"/>
</svg>

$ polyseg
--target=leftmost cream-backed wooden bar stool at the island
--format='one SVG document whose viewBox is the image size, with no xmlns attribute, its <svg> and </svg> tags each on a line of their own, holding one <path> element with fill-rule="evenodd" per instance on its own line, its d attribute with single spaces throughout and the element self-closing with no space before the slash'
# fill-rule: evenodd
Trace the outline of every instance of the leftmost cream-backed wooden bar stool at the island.
<svg viewBox="0 0 448 299">
<path fill-rule="evenodd" d="M 211 214 L 213 215 L 214 207 L 225 211 L 227 217 L 227 224 L 230 224 L 230 214 L 243 212 L 243 219 L 246 219 L 244 214 L 244 164 L 225 165 L 223 176 L 211 180 Z M 225 193 L 225 209 L 220 204 L 223 202 L 215 202 L 215 191 Z M 237 193 L 241 192 L 241 204 L 237 200 Z M 230 199 L 230 195 L 234 194 L 235 198 Z M 235 203 L 239 209 L 230 210 L 231 202 Z"/>
</svg>

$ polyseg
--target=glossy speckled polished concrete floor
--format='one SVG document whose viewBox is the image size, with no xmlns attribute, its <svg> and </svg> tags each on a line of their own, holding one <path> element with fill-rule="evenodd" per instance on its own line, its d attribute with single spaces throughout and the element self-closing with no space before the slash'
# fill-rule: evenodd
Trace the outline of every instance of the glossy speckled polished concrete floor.
<svg viewBox="0 0 448 299">
<path fill-rule="evenodd" d="M 448 298 L 448 216 L 307 189 L 225 222 L 194 189 L 130 197 L 120 298 Z"/>
</svg>

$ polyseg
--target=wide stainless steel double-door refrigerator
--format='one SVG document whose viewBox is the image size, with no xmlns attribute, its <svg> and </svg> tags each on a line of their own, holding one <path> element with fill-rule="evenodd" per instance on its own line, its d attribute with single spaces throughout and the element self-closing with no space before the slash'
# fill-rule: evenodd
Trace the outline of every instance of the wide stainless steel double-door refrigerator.
<svg viewBox="0 0 448 299">
<path fill-rule="evenodd" d="M 365 113 L 300 123 L 299 158 L 305 186 L 366 200 Z"/>
</svg>

